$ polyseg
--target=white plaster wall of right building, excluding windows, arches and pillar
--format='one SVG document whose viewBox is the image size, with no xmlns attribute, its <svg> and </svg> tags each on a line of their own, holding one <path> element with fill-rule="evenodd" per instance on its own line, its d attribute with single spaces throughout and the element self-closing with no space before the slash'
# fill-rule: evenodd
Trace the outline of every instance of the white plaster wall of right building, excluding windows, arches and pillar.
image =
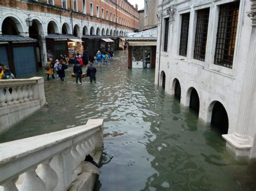
<svg viewBox="0 0 256 191">
<path fill-rule="evenodd" d="M 222 103 L 227 111 L 229 129 L 228 134 L 235 132 L 238 111 L 242 90 L 242 80 L 244 79 L 247 62 L 248 44 L 252 30 L 252 21 L 247 17 L 250 11 L 250 1 L 241 0 L 239 8 L 239 20 L 233 68 L 226 68 L 214 65 L 215 43 L 218 27 L 219 5 L 232 1 L 180 1 L 175 4 L 173 1 L 164 1 L 159 6 L 159 11 L 163 12 L 163 18 L 169 17 L 166 9 L 172 5 L 175 8 L 174 20 L 169 23 L 169 45 L 168 51 L 163 51 L 164 24 L 158 24 L 158 48 L 156 61 L 156 78 L 164 71 L 166 75 L 165 91 L 174 94 L 173 81 L 178 79 L 181 86 L 181 104 L 188 106 L 190 95 L 188 90 L 194 87 L 197 90 L 200 100 L 199 118 L 205 122 L 211 122 L 212 107 L 214 101 Z M 162 3 L 162 2 L 160 2 Z M 208 24 L 208 36 L 205 61 L 193 59 L 194 36 L 196 31 L 196 11 L 210 8 Z M 188 34 L 187 56 L 179 55 L 179 41 L 181 28 L 181 14 L 190 12 L 190 26 Z M 163 22 L 163 20 L 161 20 Z M 161 43 L 160 43 L 161 39 Z M 160 50 L 161 49 L 161 50 Z M 160 67 L 159 67 L 160 56 Z M 158 71 L 158 68 L 159 71 Z M 159 76 L 161 82 L 161 76 Z M 161 84 L 161 83 L 159 83 Z M 254 109 L 255 111 L 255 103 Z M 253 112 L 252 112 L 253 113 Z M 255 114 L 255 112 L 254 112 Z M 254 117 L 255 118 L 255 117 Z M 251 120 L 248 135 L 255 135 L 255 119 Z"/>
</svg>

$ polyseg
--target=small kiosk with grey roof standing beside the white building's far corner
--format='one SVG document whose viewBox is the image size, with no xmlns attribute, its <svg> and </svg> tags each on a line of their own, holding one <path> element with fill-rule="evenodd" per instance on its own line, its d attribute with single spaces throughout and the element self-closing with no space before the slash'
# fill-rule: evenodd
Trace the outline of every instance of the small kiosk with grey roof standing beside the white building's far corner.
<svg viewBox="0 0 256 191">
<path fill-rule="evenodd" d="M 129 68 L 155 68 L 157 28 L 131 33 L 126 40 L 129 45 Z"/>
</svg>

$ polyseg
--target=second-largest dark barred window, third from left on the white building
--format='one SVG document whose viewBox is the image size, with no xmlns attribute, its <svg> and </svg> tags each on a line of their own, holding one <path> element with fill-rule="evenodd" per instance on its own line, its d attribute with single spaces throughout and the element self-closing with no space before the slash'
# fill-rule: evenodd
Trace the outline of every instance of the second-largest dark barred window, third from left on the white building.
<svg viewBox="0 0 256 191">
<path fill-rule="evenodd" d="M 205 61 L 208 21 L 210 9 L 197 11 L 197 29 L 194 42 L 194 59 Z"/>
</svg>

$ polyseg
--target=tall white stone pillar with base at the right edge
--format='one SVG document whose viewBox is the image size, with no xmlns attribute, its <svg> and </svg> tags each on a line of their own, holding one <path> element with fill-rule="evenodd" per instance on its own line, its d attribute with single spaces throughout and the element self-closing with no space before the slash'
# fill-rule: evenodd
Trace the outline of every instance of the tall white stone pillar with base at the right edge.
<svg viewBox="0 0 256 191">
<path fill-rule="evenodd" d="M 256 11 L 248 14 L 252 17 L 252 32 L 250 38 L 249 52 L 247 54 L 247 62 L 244 74 L 244 81 L 242 86 L 242 95 L 239 104 L 239 114 L 237 119 L 237 126 L 235 132 L 232 134 L 223 135 L 227 141 L 227 147 L 235 152 L 237 156 L 252 155 L 251 149 L 255 135 L 248 135 L 248 130 L 255 128 L 250 125 L 250 116 L 253 111 L 253 97 L 256 86 Z M 254 114 L 255 115 L 255 114 Z M 254 124 L 255 125 L 255 124 Z"/>
</svg>

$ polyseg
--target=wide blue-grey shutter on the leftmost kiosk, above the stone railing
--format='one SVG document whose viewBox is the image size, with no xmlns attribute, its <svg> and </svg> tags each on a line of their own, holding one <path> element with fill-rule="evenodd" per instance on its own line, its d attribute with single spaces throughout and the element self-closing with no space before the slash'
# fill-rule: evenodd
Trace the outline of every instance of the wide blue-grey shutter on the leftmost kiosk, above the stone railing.
<svg viewBox="0 0 256 191">
<path fill-rule="evenodd" d="M 17 76 L 36 72 L 34 47 L 14 48 L 14 65 Z"/>
</svg>

